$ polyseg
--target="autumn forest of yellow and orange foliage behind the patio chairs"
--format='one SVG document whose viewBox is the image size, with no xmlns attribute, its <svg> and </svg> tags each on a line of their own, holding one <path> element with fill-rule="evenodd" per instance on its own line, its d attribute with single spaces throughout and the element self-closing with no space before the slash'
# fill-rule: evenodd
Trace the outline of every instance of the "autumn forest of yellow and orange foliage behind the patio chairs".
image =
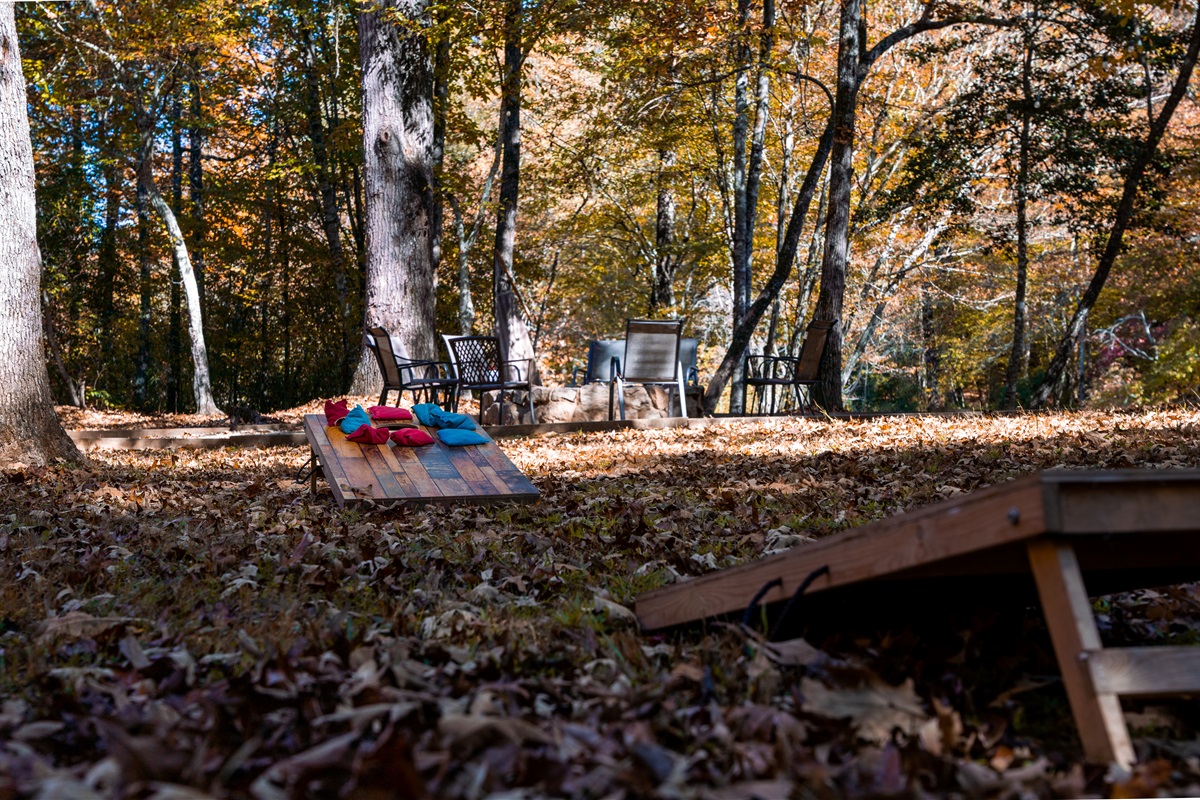
<svg viewBox="0 0 1200 800">
<path fill-rule="evenodd" d="M 437 73 L 438 332 L 493 327 L 516 52 L 508 278 L 547 383 L 587 339 L 647 314 L 685 317 L 712 373 L 756 297 L 749 349 L 794 354 L 841 203 L 847 405 L 1028 405 L 1063 345 L 1054 402 L 1195 401 L 1190 90 L 1106 288 L 1070 331 L 1192 12 L 997 2 L 896 40 L 864 72 L 839 201 L 817 157 L 845 5 L 485 0 L 401 20 L 420 26 Z M 872 7 L 863 53 L 932 11 Z M 196 410 L 198 331 L 222 408 L 350 389 L 366 283 L 358 13 L 350 0 L 18 6 L 60 402 Z M 810 207 L 793 213 L 805 190 Z"/>
</svg>

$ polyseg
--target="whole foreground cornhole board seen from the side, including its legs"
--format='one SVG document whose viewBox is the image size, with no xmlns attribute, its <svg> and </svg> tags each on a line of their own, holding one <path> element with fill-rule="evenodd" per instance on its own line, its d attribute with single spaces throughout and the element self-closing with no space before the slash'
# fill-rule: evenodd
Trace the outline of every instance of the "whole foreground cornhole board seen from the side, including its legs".
<svg viewBox="0 0 1200 800">
<path fill-rule="evenodd" d="M 650 591 L 637 618 L 655 630 L 740 610 L 775 579 L 762 602 L 787 600 L 826 566 L 806 594 L 1032 575 L 1088 760 L 1134 760 L 1121 697 L 1200 693 L 1200 646 L 1102 648 L 1085 588 L 1200 578 L 1200 470 L 1039 473 Z"/>
</svg>

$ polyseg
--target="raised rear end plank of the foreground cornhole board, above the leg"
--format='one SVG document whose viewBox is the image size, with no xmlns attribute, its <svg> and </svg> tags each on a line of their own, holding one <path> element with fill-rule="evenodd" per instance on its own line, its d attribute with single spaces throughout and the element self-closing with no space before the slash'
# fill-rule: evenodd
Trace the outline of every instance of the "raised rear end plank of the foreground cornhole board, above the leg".
<svg viewBox="0 0 1200 800">
<path fill-rule="evenodd" d="M 1200 470 L 1043 473 L 1050 533 L 1200 530 Z"/>
</svg>

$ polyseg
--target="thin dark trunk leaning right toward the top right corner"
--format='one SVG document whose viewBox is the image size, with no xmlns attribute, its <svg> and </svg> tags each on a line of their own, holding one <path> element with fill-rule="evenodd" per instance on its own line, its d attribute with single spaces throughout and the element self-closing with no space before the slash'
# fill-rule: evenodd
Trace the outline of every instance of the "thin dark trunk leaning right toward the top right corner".
<svg viewBox="0 0 1200 800">
<path fill-rule="evenodd" d="M 1100 260 L 1096 265 L 1092 281 L 1088 283 L 1087 290 L 1084 291 L 1084 296 L 1079 299 L 1075 313 L 1072 315 L 1070 323 L 1067 324 L 1067 330 L 1058 342 L 1058 349 L 1055 351 L 1054 359 L 1050 361 L 1050 366 L 1042 378 L 1042 384 L 1033 396 L 1033 408 L 1040 408 L 1050 401 L 1055 387 L 1062 379 L 1063 369 L 1067 367 L 1067 361 L 1070 359 L 1072 351 L 1078 347 L 1079 339 L 1084 335 L 1087 312 L 1096 305 L 1096 300 L 1100 296 L 1104 283 L 1109 278 L 1109 272 L 1112 271 L 1112 264 L 1116 261 L 1117 255 L 1121 254 L 1124 231 L 1129 227 L 1130 219 L 1133 219 L 1134 200 L 1138 198 L 1141 180 L 1146 175 L 1146 169 L 1154 160 L 1154 154 L 1158 152 L 1158 145 L 1163 140 L 1163 134 L 1166 133 L 1166 126 L 1170 124 L 1175 109 L 1178 108 L 1180 101 L 1183 100 L 1187 92 L 1198 55 L 1200 55 L 1200 5 L 1196 6 L 1196 17 L 1192 20 L 1188 49 L 1183 56 L 1183 61 L 1180 64 L 1180 73 L 1175 78 L 1175 84 L 1171 86 L 1163 108 L 1150 127 L 1146 142 L 1134 158 L 1129 172 L 1126 173 L 1121 200 L 1117 204 L 1112 227 L 1109 229 L 1109 240 L 1100 254 Z M 1146 86 L 1146 91 L 1152 92 L 1152 86 Z"/>
</svg>

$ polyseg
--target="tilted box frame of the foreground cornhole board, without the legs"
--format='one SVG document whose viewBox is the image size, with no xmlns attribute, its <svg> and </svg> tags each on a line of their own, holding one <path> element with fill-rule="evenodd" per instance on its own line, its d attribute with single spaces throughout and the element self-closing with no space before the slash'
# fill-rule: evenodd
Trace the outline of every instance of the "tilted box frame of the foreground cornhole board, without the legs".
<svg viewBox="0 0 1200 800">
<path fill-rule="evenodd" d="M 1028 575 L 1025 542 L 1068 536 L 1085 573 L 1138 567 L 1200 577 L 1200 470 L 1046 471 L 848 530 L 787 553 L 710 572 L 637 599 L 655 630 L 864 581 Z M 1174 577 L 1171 579 L 1175 579 Z M 1142 583 L 1141 585 L 1154 585 Z"/>
</svg>

